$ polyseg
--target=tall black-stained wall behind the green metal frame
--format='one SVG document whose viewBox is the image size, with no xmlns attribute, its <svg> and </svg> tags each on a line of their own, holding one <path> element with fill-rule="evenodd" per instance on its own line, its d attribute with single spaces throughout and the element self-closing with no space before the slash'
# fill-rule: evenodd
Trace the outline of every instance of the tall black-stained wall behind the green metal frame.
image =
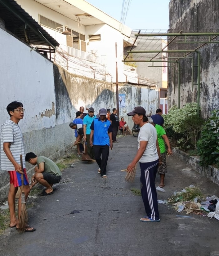
<svg viewBox="0 0 219 256">
<path fill-rule="evenodd" d="M 169 4 L 170 32 L 218 32 L 219 1 L 218 0 L 171 0 Z M 205 38 L 206 39 L 206 38 Z M 194 37 L 195 41 L 196 38 Z M 200 39 L 199 39 L 200 40 Z M 218 41 L 218 38 L 217 38 Z M 193 44 L 193 48 L 200 44 Z M 168 49 L 171 49 L 168 47 Z M 200 105 L 202 116 L 209 117 L 210 112 L 219 109 L 219 44 L 207 44 L 200 49 L 201 53 L 201 85 Z M 171 56 L 171 54 L 169 55 Z M 197 54 L 190 54 L 197 64 Z M 191 60 L 180 60 L 180 106 L 188 102 L 197 102 L 197 85 L 192 92 Z M 175 77 L 177 80 L 177 76 Z M 194 72 L 194 83 L 197 82 L 197 69 Z M 177 82 L 176 82 L 177 86 Z M 168 82 L 169 107 L 178 105 L 178 89 L 173 91 L 173 69 L 169 69 Z"/>
</svg>

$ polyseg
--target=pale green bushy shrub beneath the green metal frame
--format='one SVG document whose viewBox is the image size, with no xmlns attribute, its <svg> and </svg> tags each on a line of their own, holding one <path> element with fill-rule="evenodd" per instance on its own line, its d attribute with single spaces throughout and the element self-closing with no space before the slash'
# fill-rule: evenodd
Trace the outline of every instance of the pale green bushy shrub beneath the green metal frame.
<svg viewBox="0 0 219 256">
<path fill-rule="evenodd" d="M 197 138 L 204 119 L 197 115 L 197 103 L 187 103 L 183 108 L 173 106 L 163 115 L 167 137 L 173 146 L 182 150 L 196 149 Z"/>
</svg>

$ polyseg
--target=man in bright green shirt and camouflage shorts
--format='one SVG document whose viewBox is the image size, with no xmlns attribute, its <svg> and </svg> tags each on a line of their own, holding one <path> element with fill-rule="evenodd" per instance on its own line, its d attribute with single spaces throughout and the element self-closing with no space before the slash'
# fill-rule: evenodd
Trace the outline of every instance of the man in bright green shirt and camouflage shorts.
<svg viewBox="0 0 219 256">
<path fill-rule="evenodd" d="M 160 175 L 159 187 L 163 188 L 165 186 L 164 185 L 165 174 L 167 173 L 165 143 L 167 145 L 167 154 L 168 155 L 172 154 L 172 150 L 171 150 L 171 147 L 170 147 L 170 142 L 168 140 L 168 137 L 166 136 L 166 132 L 163 129 L 163 127 L 159 124 L 155 124 L 153 122 L 153 119 L 149 116 L 148 116 L 148 122 L 151 123 L 152 125 L 154 125 L 156 130 L 157 130 L 157 139 L 158 139 L 158 144 L 159 144 L 159 148 L 160 148 L 160 158 L 161 158 L 161 161 L 162 161 L 162 163 L 158 166 L 157 173 Z"/>
</svg>

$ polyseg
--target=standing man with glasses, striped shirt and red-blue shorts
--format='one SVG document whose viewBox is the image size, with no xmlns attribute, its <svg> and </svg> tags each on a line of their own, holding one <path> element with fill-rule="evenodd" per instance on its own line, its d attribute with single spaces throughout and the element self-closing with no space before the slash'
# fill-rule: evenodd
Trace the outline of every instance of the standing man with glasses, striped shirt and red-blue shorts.
<svg viewBox="0 0 219 256">
<path fill-rule="evenodd" d="M 21 216 L 21 196 L 18 199 L 18 219 L 15 215 L 15 195 L 18 187 L 21 189 L 21 174 L 24 180 L 25 200 L 30 193 L 28 177 L 26 175 L 23 139 L 18 122 L 23 119 L 23 104 L 13 101 L 7 106 L 7 112 L 10 120 L 1 125 L 1 170 L 8 171 L 10 176 L 10 187 L 8 192 L 8 207 L 10 212 L 9 227 L 18 226 L 18 220 Z M 23 172 L 20 163 L 20 155 L 23 159 Z M 28 225 L 25 226 L 24 232 L 33 232 L 36 229 Z"/>
</svg>

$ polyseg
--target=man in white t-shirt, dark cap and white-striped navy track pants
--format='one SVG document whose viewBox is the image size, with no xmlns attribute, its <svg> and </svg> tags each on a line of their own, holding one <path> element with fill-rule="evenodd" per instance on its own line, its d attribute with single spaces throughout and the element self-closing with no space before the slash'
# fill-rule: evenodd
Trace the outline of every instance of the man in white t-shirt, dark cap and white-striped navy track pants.
<svg viewBox="0 0 219 256">
<path fill-rule="evenodd" d="M 143 107 L 135 107 L 127 114 L 132 116 L 134 124 L 140 125 L 138 136 L 138 152 L 127 167 L 127 172 L 132 172 L 139 161 L 141 168 L 141 193 L 147 216 L 140 219 L 144 222 L 160 221 L 157 203 L 155 178 L 157 174 L 160 148 L 157 141 L 157 131 L 148 122 L 146 111 Z"/>
</svg>

